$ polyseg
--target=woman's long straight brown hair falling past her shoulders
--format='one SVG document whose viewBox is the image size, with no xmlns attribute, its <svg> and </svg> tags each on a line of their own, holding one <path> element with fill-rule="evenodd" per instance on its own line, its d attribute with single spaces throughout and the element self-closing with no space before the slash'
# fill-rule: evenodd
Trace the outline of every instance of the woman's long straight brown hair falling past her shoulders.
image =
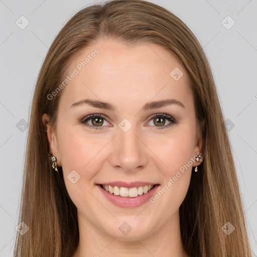
<svg viewBox="0 0 257 257">
<path fill-rule="evenodd" d="M 59 175 L 52 170 L 42 115 L 56 124 L 61 93 L 47 97 L 63 80 L 74 56 L 97 40 L 124 44 L 149 42 L 175 54 L 190 78 L 204 148 L 200 172 L 193 173 L 180 206 L 182 243 L 190 256 L 250 257 L 245 217 L 217 90 L 205 53 L 194 34 L 174 14 L 150 2 L 117 0 L 86 7 L 75 14 L 52 43 L 40 70 L 32 101 L 15 257 L 70 257 L 79 240 L 77 209 Z M 235 230 L 222 229 L 230 222 Z"/>
</svg>

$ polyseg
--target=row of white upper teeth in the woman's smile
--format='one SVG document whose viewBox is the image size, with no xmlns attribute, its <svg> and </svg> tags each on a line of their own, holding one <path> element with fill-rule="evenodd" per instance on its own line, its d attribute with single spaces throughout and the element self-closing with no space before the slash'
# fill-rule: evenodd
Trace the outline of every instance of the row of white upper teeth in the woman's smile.
<svg viewBox="0 0 257 257">
<path fill-rule="evenodd" d="M 129 196 L 129 197 L 137 197 L 138 195 L 142 195 L 143 193 L 147 193 L 150 191 L 154 186 L 140 186 L 140 187 L 133 187 L 133 188 L 126 188 L 126 187 L 118 187 L 118 186 L 109 186 L 109 185 L 101 185 L 103 189 L 105 189 L 110 194 L 120 195 L 120 196 Z"/>
</svg>

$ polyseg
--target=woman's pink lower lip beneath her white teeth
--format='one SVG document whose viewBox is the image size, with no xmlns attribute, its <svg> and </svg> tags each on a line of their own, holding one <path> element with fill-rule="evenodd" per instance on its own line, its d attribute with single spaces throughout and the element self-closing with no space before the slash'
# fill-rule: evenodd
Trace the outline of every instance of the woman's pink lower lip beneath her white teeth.
<svg viewBox="0 0 257 257">
<path fill-rule="evenodd" d="M 119 195 L 114 195 L 106 190 L 104 190 L 100 185 L 97 185 L 103 195 L 113 204 L 119 207 L 124 208 L 133 208 L 143 205 L 144 203 L 148 202 L 149 199 L 156 193 L 160 185 L 156 185 L 153 189 L 148 191 L 146 194 L 143 193 L 142 195 L 138 195 L 136 197 L 122 197 Z"/>
</svg>

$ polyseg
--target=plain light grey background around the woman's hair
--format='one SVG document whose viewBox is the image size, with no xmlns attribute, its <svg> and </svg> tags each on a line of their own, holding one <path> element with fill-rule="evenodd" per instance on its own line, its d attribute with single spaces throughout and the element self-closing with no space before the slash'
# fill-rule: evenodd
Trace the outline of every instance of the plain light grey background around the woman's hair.
<svg viewBox="0 0 257 257">
<path fill-rule="evenodd" d="M 152 2 L 173 12 L 192 30 L 210 62 L 256 256 L 257 1 Z M 0 0 L 0 257 L 13 256 L 27 122 L 40 67 L 61 27 L 93 3 L 99 2 Z M 25 29 L 19 27 L 26 25 L 21 16 L 29 21 Z"/>
</svg>

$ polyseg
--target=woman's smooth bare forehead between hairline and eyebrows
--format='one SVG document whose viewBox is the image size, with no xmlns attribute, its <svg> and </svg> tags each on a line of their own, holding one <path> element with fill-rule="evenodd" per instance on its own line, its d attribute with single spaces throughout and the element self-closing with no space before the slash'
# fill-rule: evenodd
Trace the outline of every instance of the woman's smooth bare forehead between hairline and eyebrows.
<svg viewBox="0 0 257 257">
<path fill-rule="evenodd" d="M 134 47 L 115 40 L 84 48 L 71 60 L 60 104 L 83 98 L 117 104 L 164 98 L 192 101 L 189 79 L 178 58 L 165 48 L 142 42 Z M 118 97 L 118 99 L 117 99 Z"/>
</svg>

